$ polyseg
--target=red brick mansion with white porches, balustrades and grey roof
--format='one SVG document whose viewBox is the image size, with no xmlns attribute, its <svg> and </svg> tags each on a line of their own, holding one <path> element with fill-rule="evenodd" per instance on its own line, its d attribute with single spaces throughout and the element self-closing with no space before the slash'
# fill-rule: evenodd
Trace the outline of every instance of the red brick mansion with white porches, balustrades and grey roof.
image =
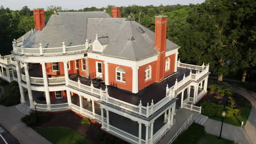
<svg viewBox="0 0 256 144">
<path fill-rule="evenodd" d="M 34 29 L 0 58 L 0 77 L 19 83 L 21 105 L 45 112 L 71 110 L 129 143 L 158 143 L 175 125 L 178 109 L 207 92 L 209 65 L 178 59 L 166 39 L 167 17 L 155 32 L 120 9 L 54 13 L 34 9 Z M 182 49 L 182 48 L 181 48 Z M 129 127 L 127 127 L 129 126 Z"/>
</svg>

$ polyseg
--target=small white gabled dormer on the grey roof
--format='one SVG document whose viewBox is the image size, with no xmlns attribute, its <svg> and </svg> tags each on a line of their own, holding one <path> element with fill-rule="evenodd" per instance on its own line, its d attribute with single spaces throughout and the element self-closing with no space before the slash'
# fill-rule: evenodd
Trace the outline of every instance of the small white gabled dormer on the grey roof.
<svg viewBox="0 0 256 144">
<path fill-rule="evenodd" d="M 92 43 L 92 51 L 103 52 L 103 50 L 108 46 L 108 37 L 100 37 L 96 34 L 96 39 Z"/>
</svg>

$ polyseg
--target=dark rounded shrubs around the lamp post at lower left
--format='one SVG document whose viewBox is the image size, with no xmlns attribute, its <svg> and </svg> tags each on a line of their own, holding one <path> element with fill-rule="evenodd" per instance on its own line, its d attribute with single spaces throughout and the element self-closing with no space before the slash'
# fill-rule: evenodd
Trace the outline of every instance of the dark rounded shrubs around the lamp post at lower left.
<svg viewBox="0 0 256 144">
<path fill-rule="evenodd" d="M 51 117 L 49 113 L 38 112 L 38 121 L 39 123 L 45 123 L 50 121 Z M 24 122 L 27 127 L 34 127 L 37 124 L 37 114 L 36 112 L 30 113 L 30 115 L 26 115 L 21 118 L 21 121 Z"/>
</svg>

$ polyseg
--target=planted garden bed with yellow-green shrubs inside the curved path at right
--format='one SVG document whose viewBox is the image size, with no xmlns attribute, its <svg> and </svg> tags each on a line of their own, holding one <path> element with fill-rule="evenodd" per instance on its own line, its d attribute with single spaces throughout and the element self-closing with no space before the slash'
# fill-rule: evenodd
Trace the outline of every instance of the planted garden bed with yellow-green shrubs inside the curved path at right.
<svg viewBox="0 0 256 144">
<path fill-rule="evenodd" d="M 240 126 L 246 124 L 251 113 L 252 104 L 229 88 L 217 85 L 208 86 L 206 97 L 199 103 L 202 114 L 217 121 L 222 121 L 222 112 L 225 111 L 225 123 Z"/>
</svg>

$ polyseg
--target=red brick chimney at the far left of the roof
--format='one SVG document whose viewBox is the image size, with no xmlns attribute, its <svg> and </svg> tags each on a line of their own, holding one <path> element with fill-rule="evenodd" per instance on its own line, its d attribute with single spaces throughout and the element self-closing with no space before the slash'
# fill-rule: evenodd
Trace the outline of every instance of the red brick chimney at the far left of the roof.
<svg viewBox="0 0 256 144">
<path fill-rule="evenodd" d="M 45 26 L 44 9 L 33 9 L 34 12 L 34 29 L 41 31 Z"/>
</svg>

